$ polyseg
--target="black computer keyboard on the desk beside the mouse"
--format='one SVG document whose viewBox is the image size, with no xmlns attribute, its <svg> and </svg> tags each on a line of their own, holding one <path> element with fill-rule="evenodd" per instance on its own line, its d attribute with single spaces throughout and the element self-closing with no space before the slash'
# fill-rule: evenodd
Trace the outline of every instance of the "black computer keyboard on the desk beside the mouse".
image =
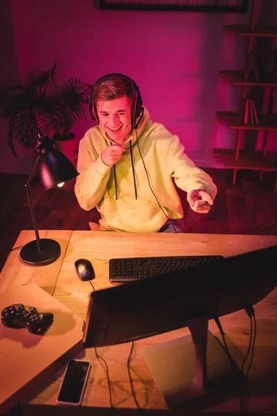
<svg viewBox="0 0 277 416">
<path fill-rule="evenodd" d="M 223 256 L 132 257 L 109 260 L 109 281 L 127 283 L 176 270 L 203 266 L 224 259 Z"/>
</svg>

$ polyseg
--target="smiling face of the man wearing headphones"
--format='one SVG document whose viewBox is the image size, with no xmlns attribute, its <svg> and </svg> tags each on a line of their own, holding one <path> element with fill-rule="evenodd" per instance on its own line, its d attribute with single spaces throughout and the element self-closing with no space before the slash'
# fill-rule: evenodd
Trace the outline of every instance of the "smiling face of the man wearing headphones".
<svg viewBox="0 0 277 416">
<path fill-rule="evenodd" d="M 98 101 L 97 114 L 100 127 L 108 137 L 124 144 L 132 131 L 132 100 L 123 96 L 109 101 Z"/>
</svg>

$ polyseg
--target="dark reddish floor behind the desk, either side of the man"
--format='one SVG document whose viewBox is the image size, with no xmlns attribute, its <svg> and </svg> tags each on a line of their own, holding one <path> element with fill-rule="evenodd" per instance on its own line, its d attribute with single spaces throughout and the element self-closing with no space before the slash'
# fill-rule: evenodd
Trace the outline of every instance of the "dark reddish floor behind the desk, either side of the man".
<svg viewBox="0 0 277 416">
<path fill-rule="evenodd" d="M 178 189 L 184 207 L 179 220 L 183 232 L 213 234 L 277 235 L 277 192 L 275 174 L 238 171 L 236 184 L 233 172 L 224 169 L 204 169 L 217 185 L 215 205 L 209 214 L 196 214 L 188 207 L 186 193 Z M 27 177 L 0 173 L 1 236 L 0 270 L 21 229 L 33 229 L 26 189 Z M 73 191 L 74 183 L 64 189 L 44 191 L 35 178 L 31 187 L 33 205 L 39 229 L 89 229 L 89 221 L 97 221 L 96 209 L 84 211 Z M 35 234 L 34 234 L 35 238 Z"/>
</svg>

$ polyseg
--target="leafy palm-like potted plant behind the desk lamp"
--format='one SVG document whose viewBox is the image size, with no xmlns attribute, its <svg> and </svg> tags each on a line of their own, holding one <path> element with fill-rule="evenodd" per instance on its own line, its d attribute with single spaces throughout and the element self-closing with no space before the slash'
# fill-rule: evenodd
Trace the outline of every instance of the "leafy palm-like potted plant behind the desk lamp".
<svg viewBox="0 0 277 416">
<path fill-rule="evenodd" d="M 55 78 L 57 61 L 48 71 L 30 71 L 26 85 L 6 89 L 0 98 L 0 116 L 8 120 L 8 145 L 15 141 L 25 148 L 35 146 L 34 128 L 55 141 L 55 147 L 70 159 L 75 152 L 73 125 L 87 121 L 91 85 L 78 78 L 59 84 Z"/>
</svg>

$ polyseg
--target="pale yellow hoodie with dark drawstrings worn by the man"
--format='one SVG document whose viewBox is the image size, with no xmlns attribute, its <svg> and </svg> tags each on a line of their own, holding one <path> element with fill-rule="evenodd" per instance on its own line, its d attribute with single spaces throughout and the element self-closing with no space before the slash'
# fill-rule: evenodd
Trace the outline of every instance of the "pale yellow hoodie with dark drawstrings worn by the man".
<svg viewBox="0 0 277 416">
<path fill-rule="evenodd" d="M 114 143 L 99 126 L 90 128 L 80 140 L 75 195 L 86 211 L 97 208 L 102 230 L 158 232 L 168 220 L 166 215 L 182 218 L 172 177 L 186 192 L 201 188 L 216 196 L 213 180 L 195 167 L 179 137 L 153 123 L 146 109 L 137 138 L 133 131 L 114 166 L 105 165 L 100 157 Z"/>
</svg>

